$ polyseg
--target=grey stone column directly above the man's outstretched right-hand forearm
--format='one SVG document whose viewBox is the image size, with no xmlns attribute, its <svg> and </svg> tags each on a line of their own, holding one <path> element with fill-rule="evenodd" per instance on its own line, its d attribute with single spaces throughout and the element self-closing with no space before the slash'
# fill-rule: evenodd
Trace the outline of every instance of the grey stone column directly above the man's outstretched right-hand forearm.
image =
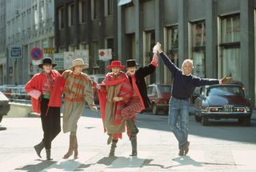
<svg viewBox="0 0 256 172">
<path fill-rule="evenodd" d="M 218 78 L 218 14 L 216 0 L 207 0 L 206 9 L 206 78 Z"/>
</svg>

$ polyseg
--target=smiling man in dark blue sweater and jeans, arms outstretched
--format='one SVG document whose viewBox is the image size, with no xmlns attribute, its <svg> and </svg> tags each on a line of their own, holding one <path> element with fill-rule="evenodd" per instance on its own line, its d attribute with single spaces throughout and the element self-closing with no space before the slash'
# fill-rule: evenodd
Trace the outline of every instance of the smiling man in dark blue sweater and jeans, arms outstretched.
<svg viewBox="0 0 256 172">
<path fill-rule="evenodd" d="M 166 67 L 173 74 L 172 98 L 170 99 L 168 122 L 170 130 L 173 131 L 178 140 L 178 155 L 184 156 L 189 152 L 188 122 L 189 122 L 189 98 L 195 87 L 214 84 L 225 84 L 232 81 L 232 78 L 212 79 L 198 78 L 192 75 L 193 61 L 184 60 L 182 70 L 178 69 L 173 62 L 162 52 L 161 44 L 158 42 L 153 52 L 158 52 Z"/>
</svg>

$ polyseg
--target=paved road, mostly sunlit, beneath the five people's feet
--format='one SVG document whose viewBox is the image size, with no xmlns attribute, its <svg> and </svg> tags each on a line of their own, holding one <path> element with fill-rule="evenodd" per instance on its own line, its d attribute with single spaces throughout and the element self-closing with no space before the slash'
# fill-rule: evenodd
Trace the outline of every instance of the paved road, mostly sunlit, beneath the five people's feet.
<svg viewBox="0 0 256 172">
<path fill-rule="evenodd" d="M 78 122 L 79 158 L 62 159 L 68 134 L 53 142 L 53 161 L 34 153 L 41 139 L 40 118 L 3 118 L 0 131 L 0 171 L 256 171 L 256 121 L 252 126 L 238 122 L 212 122 L 201 126 L 190 116 L 190 152 L 179 157 L 177 141 L 167 125 L 167 116 L 138 115 L 138 157 L 131 158 L 130 142 L 124 134 L 116 157 L 107 155 L 102 120 L 90 110 Z"/>
</svg>

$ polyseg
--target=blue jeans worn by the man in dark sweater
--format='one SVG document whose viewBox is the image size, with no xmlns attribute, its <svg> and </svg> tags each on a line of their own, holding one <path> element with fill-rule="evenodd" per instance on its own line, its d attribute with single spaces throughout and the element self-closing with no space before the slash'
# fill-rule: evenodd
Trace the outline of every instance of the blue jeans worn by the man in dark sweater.
<svg viewBox="0 0 256 172">
<path fill-rule="evenodd" d="M 168 123 L 178 140 L 179 149 L 187 142 L 189 105 L 189 99 L 171 98 L 169 102 Z"/>
</svg>

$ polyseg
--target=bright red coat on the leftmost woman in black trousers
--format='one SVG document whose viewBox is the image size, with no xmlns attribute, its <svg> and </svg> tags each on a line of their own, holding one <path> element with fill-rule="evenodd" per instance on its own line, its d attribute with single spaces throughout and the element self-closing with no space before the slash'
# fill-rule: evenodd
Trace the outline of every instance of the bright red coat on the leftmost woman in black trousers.
<svg viewBox="0 0 256 172">
<path fill-rule="evenodd" d="M 54 79 L 54 87 L 50 94 L 49 107 L 60 107 L 62 106 L 62 93 L 64 90 L 65 80 L 57 70 L 51 70 L 51 77 Z M 38 90 L 42 93 L 42 86 L 46 82 L 46 74 L 38 73 L 34 74 L 33 78 L 26 83 L 25 90 L 29 93 L 31 90 Z M 31 102 L 34 112 L 41 114 L 40 98 L 32 98 Z"/>
</svg>

